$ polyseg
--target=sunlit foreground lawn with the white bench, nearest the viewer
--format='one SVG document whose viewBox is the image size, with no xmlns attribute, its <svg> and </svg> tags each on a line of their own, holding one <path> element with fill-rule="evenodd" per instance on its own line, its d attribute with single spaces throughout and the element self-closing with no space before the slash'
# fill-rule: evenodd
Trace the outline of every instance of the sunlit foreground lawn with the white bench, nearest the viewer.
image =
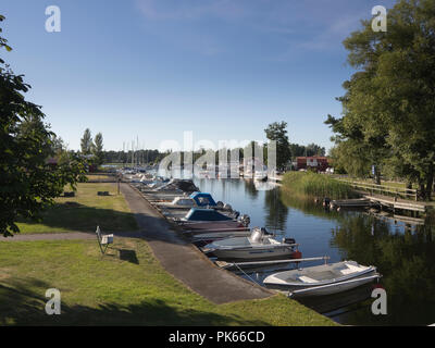
<svg viewBox="0 0 435 348">
<path fill-rule="evenodd" d="M 216 306 L 166 273 L 140 239 L 0 243 L 0 325 L 335 325 L 283 295 Z M 62 313 L 48 315 L 48 288 Z"/>
</svg>

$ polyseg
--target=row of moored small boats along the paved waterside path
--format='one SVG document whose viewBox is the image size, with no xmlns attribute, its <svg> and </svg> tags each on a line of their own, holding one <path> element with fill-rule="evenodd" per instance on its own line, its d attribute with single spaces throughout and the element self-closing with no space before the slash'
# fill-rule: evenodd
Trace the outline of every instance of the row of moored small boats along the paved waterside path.
<svg viewBox="0 0 435 348">
<path fill-rule="evenodd" d="M 243 268 L 288 261 L 299 265 L 309 260 L 302 259 L 295 239 L 277 240 L 265 228 L 249 228 L 247 214 L 199 191 L 189 179 L 167 179 L 150 173 L 130 173 L 124 177 L 169 221 L 178 225 L 192 244 L 220 264 L 223 261 Z M 276 272 L 265 277 L 263 284 L 293 296 L 319 296 L 341 293 L 380 277 L 375 266 L 341 261 Z"/>
</svg>

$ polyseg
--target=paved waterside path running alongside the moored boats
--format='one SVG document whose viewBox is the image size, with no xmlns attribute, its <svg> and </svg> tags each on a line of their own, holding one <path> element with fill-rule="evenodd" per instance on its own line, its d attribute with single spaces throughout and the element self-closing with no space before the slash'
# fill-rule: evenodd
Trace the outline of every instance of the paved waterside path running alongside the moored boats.
<svg viewBox="0 0 435 348">
<path fill-rule="evenodd" d="M 163 268 L 194 291 L 215 303 L 266 298 L 272 291 L 217 269 L 202 252 L 184 241 L 169 222 L 134 188 L 121 190 L 144 238 Z"/>
</svg>

